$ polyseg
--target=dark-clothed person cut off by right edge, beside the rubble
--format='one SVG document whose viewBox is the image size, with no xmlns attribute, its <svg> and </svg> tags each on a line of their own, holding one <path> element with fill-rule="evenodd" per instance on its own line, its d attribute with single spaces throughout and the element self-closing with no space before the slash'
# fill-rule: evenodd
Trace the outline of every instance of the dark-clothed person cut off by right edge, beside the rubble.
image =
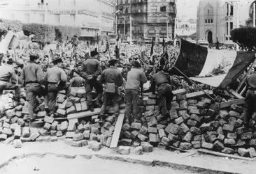
<svg viewBox="0 0 256 174">
<path fill-rule="evenodd" d="M 243 122 L 244 126 L 248 127 L 248 123 L 253 113 L 256 111 L 256 66 L 254 67 L 253 74 L 247 79 L 248 90 L 246 93 L 246 114 L 244 116 Z"/>
</svg>

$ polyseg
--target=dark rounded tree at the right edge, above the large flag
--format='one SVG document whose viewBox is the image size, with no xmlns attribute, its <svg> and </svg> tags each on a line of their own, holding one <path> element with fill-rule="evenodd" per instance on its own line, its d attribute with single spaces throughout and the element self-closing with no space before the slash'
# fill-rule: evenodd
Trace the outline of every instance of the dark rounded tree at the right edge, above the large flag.
<svg viewBox="0 0 256 174">
<path fill-rule="evenodd" d="M 230 31 L 233 42 L 245 51 L 256 50 L 256 28 L 244 26 Z"/>
</svg>

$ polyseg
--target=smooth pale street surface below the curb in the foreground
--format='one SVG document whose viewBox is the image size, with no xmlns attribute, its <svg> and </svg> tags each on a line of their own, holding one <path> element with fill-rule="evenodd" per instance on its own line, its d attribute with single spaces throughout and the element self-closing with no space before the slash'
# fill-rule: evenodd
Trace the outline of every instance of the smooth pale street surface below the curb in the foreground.
<svg viewBox="0 0 256 174">
<path fill-rule="evenodd" d="M 129 164 L 122 161 L 111 161 L 92 157 L 84 159 L 76 157 L 75 159 L 66 159 L 56 157 L 55 155 L 46 155 L 45 157 L 26 157 L 15 159 L 8 166 L 0 169 L 1 174 L 45 174 L 45 173 L 62 173 L 62 174 L 84 174 L 84 173 L 124 173 L 124 174 L 158 174 L 158 173 L 177 173 L 184 172 L 174 171 L 172 168 L 159 166 L 143 166 L 141 164 Z"/>
</svg>

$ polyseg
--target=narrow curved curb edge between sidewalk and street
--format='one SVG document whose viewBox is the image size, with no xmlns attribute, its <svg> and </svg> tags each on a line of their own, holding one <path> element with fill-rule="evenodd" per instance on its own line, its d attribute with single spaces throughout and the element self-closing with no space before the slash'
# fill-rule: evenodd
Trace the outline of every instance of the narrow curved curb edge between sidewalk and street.
<svg viewBox="0 0 256 174">
<path fill-rule="evenodd" d="M 141 160 L 141 159 L 132 159 L 129 157 L 117 157 L 117 156 L 110 156 L 110 155 L 99 155 L 99 154 L 93 154 L 93 155 L 64 155 L 64 154 L 56 154 L 52 152 L 46 152 L 46 153 L 28 153 L 28 154 L 22 154 L 22 155 L 15 155 L 13 157 L 10 157 L 10 159 L 7 159 L 5 162 L 0 164 L 0 169 L 4 166 L 7 166 L 11 161 L 15 159 L 22 159 L 27 158 L 31 156 L 37 156 L 37 157 L 45 157 L 45 155 L 55 155 L 56 157 L 63 157 L 66 159 L 75 159 L 76 157 L 82 157 L 83 159 L 92 159 L 92 157 L 97 157 L 99 159 L 107 159 L 107 160 L 115 160 L 115 161 L 123 161 L 130 164 L 141 164 L 143 166 L 161 166 L 161 167 L 169 167 L 173 168 L 174 170 L 178 171 L 188 171 L 192 173 L 201 173 L 201 174 L 237 174 L 237 173 L 231 173 L 226 171 L 217 171 L 209 168 L 201 168 L 197 166 L 189 166 L 185 164 L 176 164 L 168 161 L 159 161 L 159 160 Z"/>
</svg>

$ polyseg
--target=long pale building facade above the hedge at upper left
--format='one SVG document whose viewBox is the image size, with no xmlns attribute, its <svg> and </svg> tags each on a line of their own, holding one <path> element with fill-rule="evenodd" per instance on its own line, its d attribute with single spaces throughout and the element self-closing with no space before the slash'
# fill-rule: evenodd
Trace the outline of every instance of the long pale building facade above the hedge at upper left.
<svg viewBox="0 0 256 174">
<path fill-rule="evenodd" d="M 113 33 L 115 1 L 113 0 L 2 0 L 0 18 L 78 26 L 83 37 Z"/>
</svg>

